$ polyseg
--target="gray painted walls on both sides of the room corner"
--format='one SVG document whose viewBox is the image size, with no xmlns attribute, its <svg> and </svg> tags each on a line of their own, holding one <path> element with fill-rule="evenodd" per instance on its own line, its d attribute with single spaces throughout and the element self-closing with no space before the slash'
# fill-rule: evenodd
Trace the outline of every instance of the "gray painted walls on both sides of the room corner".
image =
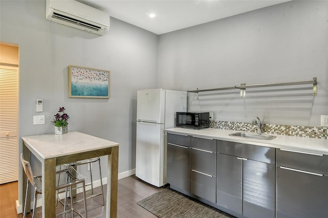
<svg viewBox="0 0 328 218">
<path fill-rule="evenodd" d="M 111 17 L 105 36 L 45 19 L 45 1 L 0 1 L 0 40 L 19 45 L 19 137 L 53 132 L 60 106 L 77 130 L 120 144 L 119 172 L 135 168 L 136 91 L 194 90 L 310 80 L 302 89 L 189 94 L 215 120 L 319 126 L 328 114 L 328 3 L 293 1 L 157 36 Z M 159 39 L 158 39 L 159 37 Z M 110 99 L 68 97 L 68 66 L 111 71 Z M 158 74 L 157 74 L 158 72 Z M 36 98 L 44 112 L 35 112 Z M 33 125 L 33 115 L 45 125 Z M 19 152 L 22 141 L 19 141 Z M 104 161 L 102 160 L 103 164 Z M 21 177 L 22 175 L 20 175 Z M 97 178 L 96 178 L 97 179 Z"/>
</svg>

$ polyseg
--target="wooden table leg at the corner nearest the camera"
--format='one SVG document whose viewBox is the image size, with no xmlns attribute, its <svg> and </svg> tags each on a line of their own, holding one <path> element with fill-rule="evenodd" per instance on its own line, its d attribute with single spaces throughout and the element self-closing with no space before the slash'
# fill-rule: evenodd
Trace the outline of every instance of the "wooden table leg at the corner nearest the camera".
<svg viewBox="0 0 328 218">
<path fill-rule="evenodd" d="M 56 217 L 56 158 L 42 163 L 42 217 Z"/>
</svg>

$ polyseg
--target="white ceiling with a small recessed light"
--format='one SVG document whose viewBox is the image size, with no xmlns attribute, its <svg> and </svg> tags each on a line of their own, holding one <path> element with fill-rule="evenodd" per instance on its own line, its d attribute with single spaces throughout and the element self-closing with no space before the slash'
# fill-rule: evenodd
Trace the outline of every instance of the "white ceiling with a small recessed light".
<svg viewBox="0 0 328 218">
<path fill-rule="evenodd" d="M 289 1 L 79 0 L 78 2 L 159 35 Z M 151 13 L 156 16 L 149 17 Z"/>
</svg>

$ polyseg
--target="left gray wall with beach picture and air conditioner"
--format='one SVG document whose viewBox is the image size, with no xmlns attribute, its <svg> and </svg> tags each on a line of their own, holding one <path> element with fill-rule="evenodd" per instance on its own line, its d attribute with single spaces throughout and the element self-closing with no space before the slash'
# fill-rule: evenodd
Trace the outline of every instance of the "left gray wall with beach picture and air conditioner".
<svg viewBox="0 0 328 218">
<path fill-rule="evenodd" d="M 19 45 L 19 138 L 53 133 L 51 120 L 64 106 L 69 131 L 118 142 L 119 173 L 134 169 L 136 94 L 157 88 L 158 36 L 112 17 L 108 34 L 87 33 L 46 20 L 45 4 L 0 2 L 0 40 Z M 69 98 L 69 65 L 110 70 L 110 99 Z M 37 98 L 44 99 L 42 113 L 35 112 Z M 46 124 L 33 125 L 33 115 L 45 115 Z M 19 152 L 22 146 L 19 140 Z"/>
</svg>

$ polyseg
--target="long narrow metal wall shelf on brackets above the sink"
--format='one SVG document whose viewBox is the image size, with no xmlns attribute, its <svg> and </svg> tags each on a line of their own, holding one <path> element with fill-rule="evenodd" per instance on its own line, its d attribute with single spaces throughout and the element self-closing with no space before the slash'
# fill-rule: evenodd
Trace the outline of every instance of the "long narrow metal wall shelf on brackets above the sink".
<svg viewBox="0 0 328 218">
<path fill-rule="evenodd" d="M 294 82 L 277 82 L 277 83 L 265 83 L 265 84 L 255 84 L 255 85 L 246 85 L 245 83 L 241 83 L 240 85 L 235 85 L 233 87 L 226 88 L 217 88 L 217 89 L 205 89 L 205 90 L 188 90 L 187 92 L 198 93 L 199 92 L 213 92 L 213 91 L 221 91 L 221 90 L 233 90 L 240 89 L 240 98 L 246 97 L 246 89 L 249 88 L 262 88 L 262 87 L 271 87 L 271 86 L 283 86 L 283 85 L 304 85 L 304 84 L 313 84 L 313 95 L 317 95 L 317 77 L 314 77 L 312 80 L 303 80 L 303 81 L 294 81 Z"/>
</svg>

